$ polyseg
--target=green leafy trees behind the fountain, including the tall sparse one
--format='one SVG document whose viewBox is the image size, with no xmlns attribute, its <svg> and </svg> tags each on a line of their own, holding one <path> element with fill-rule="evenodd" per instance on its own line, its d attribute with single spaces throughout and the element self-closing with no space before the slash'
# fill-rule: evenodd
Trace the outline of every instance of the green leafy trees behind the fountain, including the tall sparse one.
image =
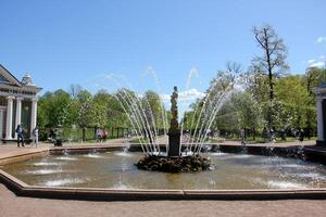
<svg viewBox="0 0 326 217">
<path fill-rule="evenodd" d="M 247 72 L 236 62 L 228 62 L 225 69 L 218 71 L 206 95 L 185 113 L 184 130 L 191 132 L 206 126 L 205 123 L 211 123 L 211 130 L 228 132 L 316 128 L 312 88 L 326 81 L 326 69 L 310 67 L 304 75 L 285 74 L 289 66 L 283 39 L 269 25 L 254 27 L 252 33 L 262 53 L 252 59 Z M 37 117 L 41 128 L 133 127 L 130 119 L 134 119 L 147 120 L 151 128 L 162 129 L 168 127 L 166 119 L 171 113 L 151 90 L 139 95 L 122 88 L 115 93 L 100 90 L 92 95 L 72 85 L 68 92 L 61 89 L 46 92 L 39 99 Z M 143 128 L 138 126 L 139 131 Z"/>
</svg>

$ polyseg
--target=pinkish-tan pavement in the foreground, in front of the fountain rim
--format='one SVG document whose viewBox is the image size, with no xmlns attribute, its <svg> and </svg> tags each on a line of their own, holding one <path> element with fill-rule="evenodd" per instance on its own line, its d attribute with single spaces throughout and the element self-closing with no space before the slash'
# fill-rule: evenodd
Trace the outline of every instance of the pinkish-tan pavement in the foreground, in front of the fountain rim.
<svg viewBox="0 0 326 217">
<path fill-rule="evenodd" d="M 298 217 L 326 216 L 325 201 L 146 201 L 89 202 L 20 197 L 0 184 L 1 217 Z"/>
</svg>

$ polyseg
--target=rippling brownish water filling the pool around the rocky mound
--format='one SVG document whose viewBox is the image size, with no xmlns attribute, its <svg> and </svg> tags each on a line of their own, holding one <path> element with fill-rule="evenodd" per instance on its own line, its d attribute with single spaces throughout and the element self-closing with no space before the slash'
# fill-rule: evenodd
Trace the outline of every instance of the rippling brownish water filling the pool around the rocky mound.
<svg viewBox="0 0 326 217">
<path fill-rule="evenodd" d="M 2 169 L 30 186 L 111 189 L 297 189 L 326 188 L 326 166 L 301 159 L 210 153 L 212 170 L 166 174 L 138 170 L 141 153 L 49 155 Z"/>
</svg>

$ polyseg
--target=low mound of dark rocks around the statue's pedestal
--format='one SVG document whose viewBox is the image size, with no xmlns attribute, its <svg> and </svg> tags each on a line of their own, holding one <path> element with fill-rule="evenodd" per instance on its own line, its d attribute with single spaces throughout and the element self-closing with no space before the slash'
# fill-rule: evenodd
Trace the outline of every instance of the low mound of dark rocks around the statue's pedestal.
<svg viewBox="0 0 326 217">
<path fill-rule="evenodd" d="M 211 166 L 209 157 L 193 155 L 184 157 L 145 156 L 136 166 L 143 170 L 165 173 L 202 171 Z"/>
</svg>

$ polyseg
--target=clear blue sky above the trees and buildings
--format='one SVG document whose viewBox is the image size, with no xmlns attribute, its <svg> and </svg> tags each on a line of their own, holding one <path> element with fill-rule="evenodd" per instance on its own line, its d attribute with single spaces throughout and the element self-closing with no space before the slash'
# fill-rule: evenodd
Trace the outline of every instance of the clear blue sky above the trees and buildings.
<svg viewBox="0 0 326 217">
<path fill-rule="evenodd" d="M 0 63 L 42 92 L 112 90 L 106 74 L 158 91 L 153 73 L 161 93 L 203 91 L 227 61 L 247 68 L 260 54 L 251 29 L 264 23 L 285 40 L 291 73 L 323 66 L 325 10 L 325 0 L 0 0 Z"/>
</svg>

